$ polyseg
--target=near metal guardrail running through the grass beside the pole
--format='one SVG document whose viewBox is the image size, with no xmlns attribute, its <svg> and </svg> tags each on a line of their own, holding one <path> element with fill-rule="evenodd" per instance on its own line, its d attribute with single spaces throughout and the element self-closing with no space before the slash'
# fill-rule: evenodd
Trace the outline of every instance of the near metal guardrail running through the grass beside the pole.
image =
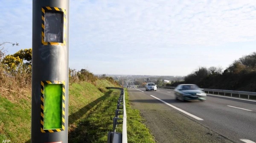
<svg viewBox="0 0 256 143">
<path fill-rule="evenodd" d="M 119 87 L 107 87 L 107 89 L 120 90 L 120 96 L 117 101 L 116 114 L 113 118 L 113 131 L 108 133 L 108 143 L 127 143 L 127 127 L 126 127 L 126 108 L 125 108 L 125 91 Z M 123 118 L 119 118 L 123 115 Z M 121 121 L 122 122 L 118 122 Z M 116 126 L 122 124 L 122 133 L 116 132 Z"/>
</svg>

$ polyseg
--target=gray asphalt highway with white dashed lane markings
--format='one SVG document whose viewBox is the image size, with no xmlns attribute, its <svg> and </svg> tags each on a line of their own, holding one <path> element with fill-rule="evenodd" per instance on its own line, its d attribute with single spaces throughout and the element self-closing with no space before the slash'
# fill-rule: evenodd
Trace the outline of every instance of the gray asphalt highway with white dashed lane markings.
<svg viewBox="0 0 256 143">
<path fill-rule="evenodd" d="M 256 101 L 207 95 L 204 102 L 182 102 L 164 89 L 128 93 L 157 143 L 256 142 Z"/>
</svg>

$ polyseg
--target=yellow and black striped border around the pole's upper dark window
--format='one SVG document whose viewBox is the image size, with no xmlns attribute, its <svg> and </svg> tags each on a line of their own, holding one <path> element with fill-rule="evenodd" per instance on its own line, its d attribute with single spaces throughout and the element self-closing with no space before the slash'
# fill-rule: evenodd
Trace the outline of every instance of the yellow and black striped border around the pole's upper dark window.
<svg viewBox="0 0 256 143">
<path fill-rule="evenodd" d="M 45 42 L 44 41 L 44 14 L 45 11 L 62 11 L 63 16 L 63 43 L 58 42 Z M 66 45 L 66 10 L 64 8 L 57 8 L 57 7 L 42 7 L 42 44 L 43 45 Z"/>
</svg>

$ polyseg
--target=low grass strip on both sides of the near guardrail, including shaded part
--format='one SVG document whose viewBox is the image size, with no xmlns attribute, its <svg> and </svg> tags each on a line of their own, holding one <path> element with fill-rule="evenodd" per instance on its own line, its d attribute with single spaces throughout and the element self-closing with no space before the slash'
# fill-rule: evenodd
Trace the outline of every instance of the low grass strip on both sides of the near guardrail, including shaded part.
<svg viewBox="0 0 256 143">
<path fill-rule="evenodd" d="M 113 117 L 119 94 L 120 90 L 113 90 L 113 92 L 110 90 L 105 93 L 105 98 L 77 123 L 76 129 L 69 133 L 69 141 L 72 143 L 106 143 L 108 132 L 113 129 Z M 140 117 L 140 111 L 131 109 L 127 91 L 125 91 L 125 103 L 128 143 L 155 143 L 149 129 L 143 124 L 144 120 Z M 120 117 L 122 118 L 122 115 Z M 116 132 L 122 132 L 122 124 L 117 126 Z"/>
</svg>

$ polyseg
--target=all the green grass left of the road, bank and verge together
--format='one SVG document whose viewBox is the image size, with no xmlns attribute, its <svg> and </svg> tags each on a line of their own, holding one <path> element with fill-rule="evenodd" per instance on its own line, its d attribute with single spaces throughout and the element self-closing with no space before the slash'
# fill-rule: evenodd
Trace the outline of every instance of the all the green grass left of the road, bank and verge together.
<svg viewBox="0 0 256 143">
<path fill-rule="evenodd" d="M 114 87 L 114 85 L 107 80 L 97 80 L 95 85 L 81 82 L 69 86 L 69 142 L 76 143 L 81 140 L 86 140 L 87 143 L 106 142 L 108 132 L 113 127 L 112 120 L 119 91 L 109 91 L 104 87 Z M 148 129 L 142 124 L 140 112 L 130 108 L 128 96 L 126 102 L 128 142 L 154 143 Z M 0 140 L 29 143 L 30 127 L 31 98 L 10 102 L 0 96 Z M 119 131 L 121 132 L 121 126 L 117 128 L 117 132 Z"/>
</svg>

